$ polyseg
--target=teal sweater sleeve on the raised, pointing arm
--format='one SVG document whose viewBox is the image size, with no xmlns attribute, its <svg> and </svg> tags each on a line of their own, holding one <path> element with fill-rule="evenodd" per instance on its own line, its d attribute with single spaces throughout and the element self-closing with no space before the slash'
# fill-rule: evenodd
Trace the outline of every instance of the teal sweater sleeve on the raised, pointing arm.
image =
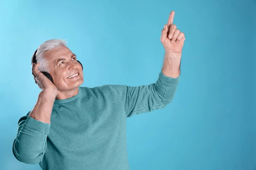
<svg viewBox="0 0 256 170">
<path fill-rule="evenodd" d="M 164 108 L 175 96 L 180 76 L 167 77 L 162 70 L 155 83 L 131 87 L 127 85 L 106 85 L 119 98 L 127 117 Z"/>
</svg>

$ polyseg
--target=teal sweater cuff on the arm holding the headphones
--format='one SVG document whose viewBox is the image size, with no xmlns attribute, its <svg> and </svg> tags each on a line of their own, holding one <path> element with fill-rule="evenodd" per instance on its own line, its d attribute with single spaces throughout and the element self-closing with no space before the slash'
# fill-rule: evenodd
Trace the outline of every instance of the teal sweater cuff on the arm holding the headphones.
<svg viewBox="0 0 256 170">
<path fill-rule="evenodd" d="M 33 130 L 39 131 L 41 133 L 49 134 L 50 124 L 41 122 L 39 120 L 33 119 L 32 117 L 28 116 L 26 122 L 23 126 L 29 127 Z"/>
</svg>

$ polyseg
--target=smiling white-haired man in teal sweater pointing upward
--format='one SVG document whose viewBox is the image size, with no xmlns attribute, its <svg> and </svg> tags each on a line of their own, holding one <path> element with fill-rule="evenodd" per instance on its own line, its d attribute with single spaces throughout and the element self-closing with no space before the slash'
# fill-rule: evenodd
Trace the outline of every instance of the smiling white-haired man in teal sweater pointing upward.
<svg viewBox="0 0 256 170">
<path fill-rule="evenodd" d="M 163 68 L 150 85 L 79 87 L 82 65 L 65 43 L 40 45 L 32 74 L 42 91 L 32 111 L 18 121 L 15 158 L 39 163 L 43 170 L 129 170 L 126 118 L 164 108 L 177 89 L 185 37 L 173 18 L 174 11 L 160 38 L 166 52 Z"/>
</svg>

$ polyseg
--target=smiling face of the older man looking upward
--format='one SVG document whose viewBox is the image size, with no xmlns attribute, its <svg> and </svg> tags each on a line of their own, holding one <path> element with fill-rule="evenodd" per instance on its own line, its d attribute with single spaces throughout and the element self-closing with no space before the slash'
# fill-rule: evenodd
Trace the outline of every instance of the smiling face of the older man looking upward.
<svg viewBox="0 0 256 170">
<path fill-rule="evenodd" d="M 84 82 L 82 66 L 69 48 L 53 48 L 47 51 L 44 57 L 48 61 L 49 74 L 59 91 L 76 89 Z M 77 76 L 68 78 L 77 73 Z"/>
</svg>

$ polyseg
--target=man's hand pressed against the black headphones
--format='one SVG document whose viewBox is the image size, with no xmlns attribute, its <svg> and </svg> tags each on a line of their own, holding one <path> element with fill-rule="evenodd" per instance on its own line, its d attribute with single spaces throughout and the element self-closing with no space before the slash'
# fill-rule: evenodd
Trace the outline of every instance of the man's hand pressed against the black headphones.
<svg viewBox="0 0 256 170">
<path fill-rule="evenodd" d="M 33 65 L 32 65 L 32 75 L 34 76 L 35 83 L 42 90 L 50 91 L 51 94 L 55 94 L 55 96 L 57 96 L 58 89 L 51 82 L 51 80 L 49 80 L 43 73 L 41 73 L 38 70 L 39 65 L 40 65 L 39 62 L 37 64 L 33 63 Z"/>
</svg>

